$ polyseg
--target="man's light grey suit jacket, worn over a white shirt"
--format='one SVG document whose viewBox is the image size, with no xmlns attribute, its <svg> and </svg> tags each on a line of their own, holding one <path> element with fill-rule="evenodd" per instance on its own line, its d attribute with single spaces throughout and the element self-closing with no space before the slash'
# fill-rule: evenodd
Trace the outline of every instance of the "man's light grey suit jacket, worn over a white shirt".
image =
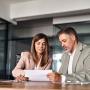
<svg viewBox="0 0 90 90">
<path fill-rule="evenodd" d="M 73 59 L 72 74 L 68 74 L 69 55 L 64 53 L 61 58 L 60 73 L 66 76 L 66 80 L 90 81 L 90 47 L 78 42 Z"/>
</svg>

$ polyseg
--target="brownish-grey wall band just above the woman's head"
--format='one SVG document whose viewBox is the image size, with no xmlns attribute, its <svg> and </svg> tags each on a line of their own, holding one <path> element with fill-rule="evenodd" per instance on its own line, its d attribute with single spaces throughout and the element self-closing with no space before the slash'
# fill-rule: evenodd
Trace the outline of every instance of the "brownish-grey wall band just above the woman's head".
<svg viewBox="0 0 90 90">
<path fill-rule="evenodd" d="M 24 21 L 19 23 L 15 28 L 13 28 L 15 37 L 33 37 L 37 33 L 45 33 L 48 36 L 53 36 L 52 18 Z"/>
</svg>

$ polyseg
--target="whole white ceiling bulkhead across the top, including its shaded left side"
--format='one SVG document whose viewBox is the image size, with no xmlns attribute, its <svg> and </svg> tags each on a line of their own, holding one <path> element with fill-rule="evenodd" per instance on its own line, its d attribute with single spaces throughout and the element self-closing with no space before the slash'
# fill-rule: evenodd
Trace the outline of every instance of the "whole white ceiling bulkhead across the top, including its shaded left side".
<svg viewBox="0 0 90 90">
<path fill-rule="evenodd" d="M 13 2 L 0 0 L 0 18 L 16 24 L 12 19 L 28 20 L 45 17 L 90 13 L 90 0 L 28 0 Z"/>
</svg>

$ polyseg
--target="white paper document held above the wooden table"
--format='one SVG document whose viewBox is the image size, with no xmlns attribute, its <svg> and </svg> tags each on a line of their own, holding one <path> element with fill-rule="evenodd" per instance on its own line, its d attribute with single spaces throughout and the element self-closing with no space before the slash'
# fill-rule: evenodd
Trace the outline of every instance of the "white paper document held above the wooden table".
<svg viewBox="0 0 90 90">
<path fill-rule="evenodd" d="M 52 70 L 25 70 L 25 77 L 29 77 L 30 81 L 49 81 L 47 74 Z"/>
</svg>

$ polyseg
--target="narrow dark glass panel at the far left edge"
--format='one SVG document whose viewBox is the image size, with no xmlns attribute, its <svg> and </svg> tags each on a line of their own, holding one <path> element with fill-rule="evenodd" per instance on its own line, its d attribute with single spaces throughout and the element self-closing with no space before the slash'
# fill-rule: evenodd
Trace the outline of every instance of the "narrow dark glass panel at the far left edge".
<svg viewBox="0 0 90 90">
<path fill-rule="evenodd" d="M 7 31 L 7 22 L 0 19 L 0 79 L 6 78 Z"/>
</svg>

